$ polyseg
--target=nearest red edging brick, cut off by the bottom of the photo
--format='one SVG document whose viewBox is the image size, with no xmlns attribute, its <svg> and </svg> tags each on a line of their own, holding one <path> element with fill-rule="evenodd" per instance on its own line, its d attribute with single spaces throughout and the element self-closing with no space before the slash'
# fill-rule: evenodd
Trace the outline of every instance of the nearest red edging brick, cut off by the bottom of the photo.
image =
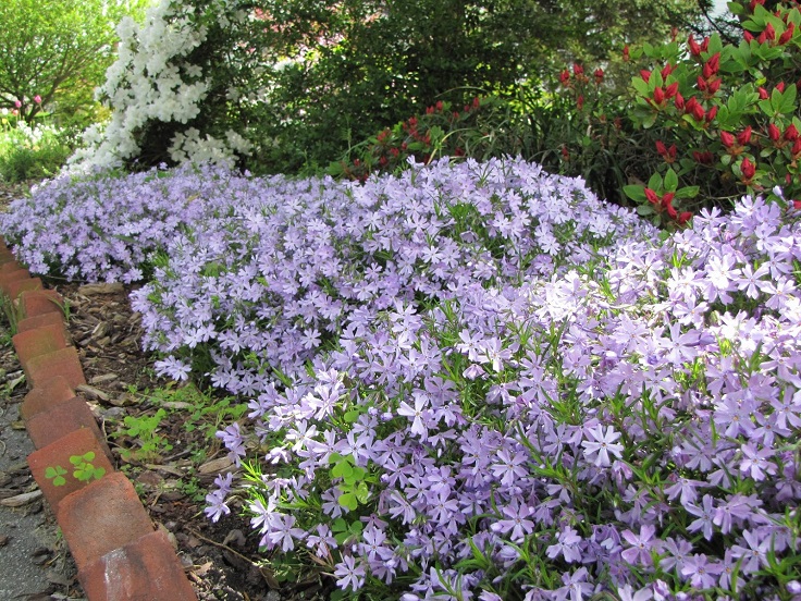
<svg viewBox="0 0 801 601">
<path fill-rule="evenodd" d="M 93 600 L 197 600 L 170 539 L 161 530 L 89 562 L 78 579 Z"/>
</svg>

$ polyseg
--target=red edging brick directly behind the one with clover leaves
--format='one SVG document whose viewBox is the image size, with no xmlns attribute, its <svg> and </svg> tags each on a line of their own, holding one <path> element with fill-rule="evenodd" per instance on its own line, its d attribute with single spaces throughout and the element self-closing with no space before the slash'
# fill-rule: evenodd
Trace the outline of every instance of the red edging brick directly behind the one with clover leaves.
<svg viewBox="0 0 801 601">
<path fill-rule="evenodd" d="M 37 413 L 25 421 L 25 428 L 27 428 L 28 436 L 36 449 L 44 449 L 70 432 L 86 428 L 95 434 L 103 450 L 103 454 L 110 462 L 113 462 L 111 450 L 106 443 L 106 437 L 97 426 L 95 414 L 91 413 L 86 401 L 79 396 L 73 396 L 69 401 L 58 403 L 44 412 Z"/>
</svg>

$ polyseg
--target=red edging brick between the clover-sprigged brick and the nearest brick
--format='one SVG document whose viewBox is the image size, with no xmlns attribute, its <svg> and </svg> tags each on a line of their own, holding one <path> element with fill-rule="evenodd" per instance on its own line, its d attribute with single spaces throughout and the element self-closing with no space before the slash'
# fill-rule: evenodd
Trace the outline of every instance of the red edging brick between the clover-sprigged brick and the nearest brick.
<svg viewBox="0 0 801 601">
<path fill-rule="evenodd" d="M 56 516 L 78 571 L 153 531 L 134 485 L 119 471 L 65 496 Z"/>
</svg>

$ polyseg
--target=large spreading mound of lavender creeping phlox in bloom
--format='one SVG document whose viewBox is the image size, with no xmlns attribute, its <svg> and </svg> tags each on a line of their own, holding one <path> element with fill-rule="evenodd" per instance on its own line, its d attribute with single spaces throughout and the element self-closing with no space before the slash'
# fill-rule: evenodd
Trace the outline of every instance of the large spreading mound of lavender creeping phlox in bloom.
<svg viewBox="0 0 801 601">
<path fill-rule="evenodd" d="M 245 494 L 266 550 L 406 600 L 801 589 L 792 209 L 747 197 L 660 243 L 519 160 L 150 177 L 126 226 L 176 224 L 133 298 L 147 344 L 250 409 L 218 433 L 244 478 L 212 519 Z M 69 189 L 3 219 L 27 256 L 34 217 L 84 210 Z"/>
</svg>

